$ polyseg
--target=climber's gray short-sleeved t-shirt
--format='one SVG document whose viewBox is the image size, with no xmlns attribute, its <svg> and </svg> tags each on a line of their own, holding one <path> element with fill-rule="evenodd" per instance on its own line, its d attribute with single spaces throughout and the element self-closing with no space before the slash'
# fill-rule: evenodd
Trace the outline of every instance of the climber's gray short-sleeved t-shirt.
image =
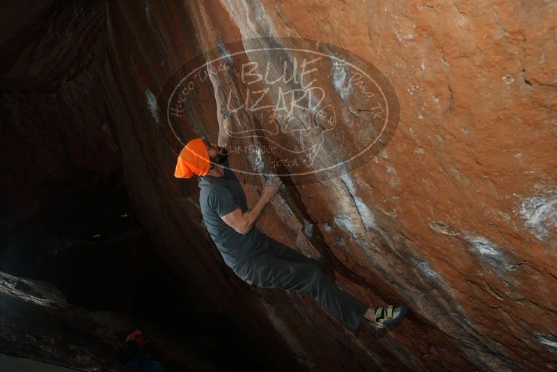
<svg viewBox="0 0 557 372">
<path fill-rule="evenodd" d="M 221 251 L 224 262 L 231 267 L 242 258 L 262 249 L 266 235 L 256 226 L 243 235 L 221 219 L 238 207 L 242 208 L 242 212 L 248 210 L 246 194 L 234 172 L 228 169 L 228 160 L 223 165 L 226 168 L 222 177 L 198 177 L 199 205 L 207 231 Z"/>
</svg>

